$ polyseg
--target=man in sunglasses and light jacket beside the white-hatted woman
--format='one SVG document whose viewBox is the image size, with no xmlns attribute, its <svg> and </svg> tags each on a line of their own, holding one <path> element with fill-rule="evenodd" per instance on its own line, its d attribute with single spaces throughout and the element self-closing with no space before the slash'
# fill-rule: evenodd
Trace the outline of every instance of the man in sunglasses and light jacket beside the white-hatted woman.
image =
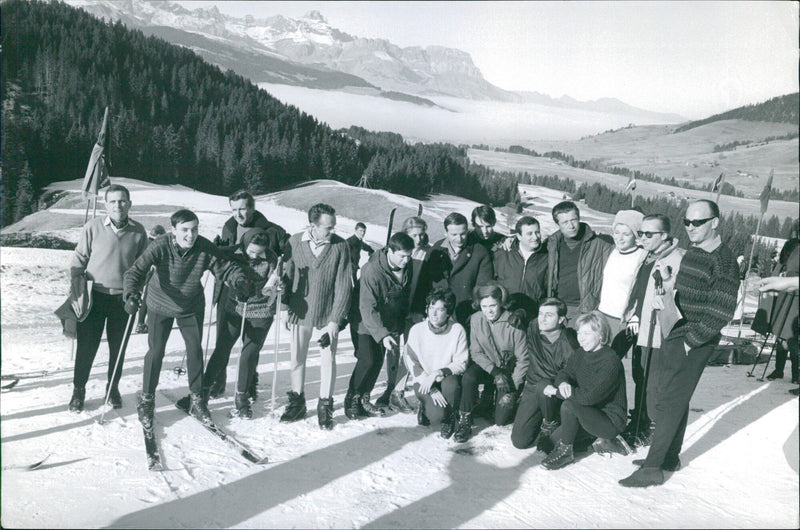
<svg viewBox="0 0 800 530">
<path fill-rule="evenodd" d="M 633 382 L 636 385 L 636 397 L 633 402 L 630 423 L 623 433 L 628 443 L 647 438 L 651 423 L 647 412 L 648 399 L 651 401 L 650 408 L 655 408 L 652 396 L 647 397 L 646 395 L 648 364 L 653 359 L 653 352 L 661 348 L 658 312 L 653 311 L 653 299 L 656 296 L 656 282 L 653 273 L 656 270 L 663 271 L 661 272 L 663 284 L 666 288 L 672 289 L 681 260 L 686 253 L 684 249 L 678 248 L 678 240 L 670 235 L 670 225 L 669 217 L 666 215 L 647 215 L 642 220 L 641 230 L 636 233 L 639 245 L 647 252 L 647 255 L 636 274 L 628 307 L 623 314 L 623 321 L 627 322 L 631 342 L 635 343 L 631 371 Z M 655 322 L 651 322 L 651 317 L 655 317 Z M 650 336 L 651 325 L 653 327 L 652 337 Z M 644 355 L 642 355 L 643 353 Z"/>
</svg>

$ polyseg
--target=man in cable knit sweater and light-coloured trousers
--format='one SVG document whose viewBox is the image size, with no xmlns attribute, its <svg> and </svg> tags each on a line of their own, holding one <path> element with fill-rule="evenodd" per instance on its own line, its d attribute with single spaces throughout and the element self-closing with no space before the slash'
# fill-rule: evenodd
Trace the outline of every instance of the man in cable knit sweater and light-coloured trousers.
<svg viewBox="0 0 800 530">
<path fill-rule="evenodd" d="M 305 417 L 306 357 L 311 334 L 317 329 L 330 338 L 329 344 L 321 344 L 317 417 L 320 428 L 332 429 L 336 345 L 339 327 L 350 309 L 352 265 L 347 242 L 333 233 L 336 226 L 333 207 L 315 204 L 308 211 L 308 222 L 308 230 L 289 238 L 285 254 L 286 307 L 292 326 L 292 390 L 281 421 L 298 421 Z"/>
</svg>

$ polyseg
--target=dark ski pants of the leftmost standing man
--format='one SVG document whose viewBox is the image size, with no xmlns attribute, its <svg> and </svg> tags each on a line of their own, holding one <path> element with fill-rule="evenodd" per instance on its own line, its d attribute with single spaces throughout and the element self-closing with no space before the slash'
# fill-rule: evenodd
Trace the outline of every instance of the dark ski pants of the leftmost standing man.
<svg viewBox="0 0 800 530">
<path fill-rule="evenodd" d="M 106 330 L 108 339 L 108 379 L 113 386 L 119 384 L 122 376 L 122 365 L 125 362 L 125 353 L 119 360 L 117 373 L 114 366 L 117 364 L 119 347 L 122 344 L 122 337 L 125 334 L 125 325 L 128 322 L 128 314 L 125 312 L 125 304 L 122 302 L 121 294 L 105 294 L 97 291 L 92 292 L 92 309 L 83 322 L 78 322 L 77 346 L 75 350 L 75 370 L 72 376 L 72 384 L 76 388 L 83 388 L 89 380 L 89 372 L 92 370 L 97 349 L 100 347 L 100 339 L 103 337 L 103 328 Z"/>
</svg>

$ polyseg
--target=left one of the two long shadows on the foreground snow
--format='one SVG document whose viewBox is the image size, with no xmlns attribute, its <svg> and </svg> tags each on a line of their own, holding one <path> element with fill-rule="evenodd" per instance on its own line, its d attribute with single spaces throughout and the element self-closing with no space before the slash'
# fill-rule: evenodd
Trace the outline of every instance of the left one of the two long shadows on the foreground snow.
<svg viewBox="0 0 800 530">
<path fill-rule="evenodd" d="M 364 433 L 235 482 L 124 515 L 109 528 L 227 528 L 242 524 L 386 458 L 428 434 L 426 429 L 405 427 Z M 364 451 L 365 447 L 371 451 Z"/>
</svg>

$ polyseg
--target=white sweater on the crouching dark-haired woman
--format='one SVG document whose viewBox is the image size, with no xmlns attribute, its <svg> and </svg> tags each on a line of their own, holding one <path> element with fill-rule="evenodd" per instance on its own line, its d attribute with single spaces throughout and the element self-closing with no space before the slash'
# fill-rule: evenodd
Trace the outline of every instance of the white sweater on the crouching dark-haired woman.
<svg viewBox="0 0 800 530">
<path fill-rule="evenodd" d="M 438 333 L 431 330 L 427 320 L 414 324 L 408 332 L 406 359 L 416 382 L 436 370 L 443 370 L 445 375 L 463 374 L 469 360 L 467 332 L 452 319 Z"/>
</svg>

